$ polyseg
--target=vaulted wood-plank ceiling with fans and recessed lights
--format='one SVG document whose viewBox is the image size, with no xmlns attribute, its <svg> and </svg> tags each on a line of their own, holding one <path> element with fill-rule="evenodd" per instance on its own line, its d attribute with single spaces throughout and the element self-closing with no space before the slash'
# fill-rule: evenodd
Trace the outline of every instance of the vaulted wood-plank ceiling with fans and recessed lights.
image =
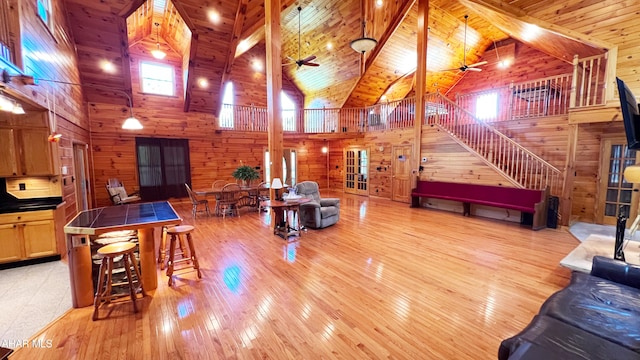
<svg viewBox="0 0 640 360">
<path fill-rule="evenodd" d="M 579 3 L 563 2 L 564 6 Z M 281 6 L 283 63 L 290 62 L 289 58 L 298 59 L 300 6 L 300 56 L 316 55 L 314 61 L 320 64 L 282 68 L 283 77 L 304 94 L 305 107 L 368 106 L 380 101 L 382 95 L 395 100 L 412 93 L 417 57 L 416 0 L 383 0 L 381 6 L 374 0 L 282 0 Z M 130 93 L 129 48 L 143 44 L 151 51 L 159 42 L 164 51 L 183 59 L 182 70 L 187 74 L 185 111 L 217 114 L 223 84 L 229 80 L 235 60 L 255 54 L 247 52 L 251 48 L 263 56 L 265 53 L 263 0 L 65 0 L 65 7 L 83 83 Z M 545 2 L 533 0 L 431 0 L 427 91 L 447 92 L 464 75 L 439 70 L 462 65 L 466 14 L 467 64 L 479 61 L 494 43 L 508 38 L 568 62 L 574 54 L 589 56 L 605 51 L 607 44 L 565 29 L 563 24 L 571 19 L 561 17 L 551 23 L 558 12 L 549 10 Z M 362 14 L 367 36 L 377 39 L 378 45 L 361 59 L 349 43 L 362 35 Z M 155 22 L 160 24 L 159 39 Z M 100 69 L 104 59 L 115 64 L 112 74 Z M 264 58 L 261 60 L 264 63 Z M 238 62 L 237 66 L 246 63 Z M 201 79 L 207 80 L 208 88 L 198 86 Z M 105 102 L 107 95 L 117 97 L 98 88 L 85 89 L 90 102 Z"/>
</svg>

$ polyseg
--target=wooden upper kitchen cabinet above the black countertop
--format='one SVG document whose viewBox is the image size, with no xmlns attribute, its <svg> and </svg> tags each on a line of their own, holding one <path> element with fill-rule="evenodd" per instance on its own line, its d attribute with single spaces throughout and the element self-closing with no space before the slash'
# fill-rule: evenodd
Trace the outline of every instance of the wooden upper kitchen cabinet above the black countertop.
<svg viewBox="0 0 640 360">
<path fill-rule="evenodd" d="M 0 128 L 0 177 L 57 175 L 57 144 L 44 128 Z"/>
</svg>

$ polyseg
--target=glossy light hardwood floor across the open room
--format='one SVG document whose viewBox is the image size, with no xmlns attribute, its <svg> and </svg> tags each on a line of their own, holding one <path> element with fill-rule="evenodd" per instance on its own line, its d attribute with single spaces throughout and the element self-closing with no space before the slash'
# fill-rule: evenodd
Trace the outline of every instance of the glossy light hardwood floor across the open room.
<svg viewBox="0 0 640 360">
<path fill-rule="evenodd" d="M 324 194 L 327 196 L 327 194 Z M 18 359 L 495 359 L 549 295 L 568 283 L 566 230 L 337 194 L 335 226 L 297 241 L 268 213 L 192 220 L 203 278 L 112 306 L 74 309 Z M 105 314 L 102 310 L 101 314 Z"/>
</svg>

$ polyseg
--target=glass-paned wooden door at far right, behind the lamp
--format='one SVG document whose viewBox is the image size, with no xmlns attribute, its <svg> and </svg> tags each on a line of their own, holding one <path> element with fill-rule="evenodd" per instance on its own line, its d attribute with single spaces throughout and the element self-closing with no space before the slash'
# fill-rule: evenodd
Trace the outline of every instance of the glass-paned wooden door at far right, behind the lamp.
<svg viewBox="0 0 640 360">
<path fill-rule="evenodd" d="M 638 213 L 638 189 L 636 184 L 624 179 L 624 169 L 637 162 L 638 152 L 627 148 L 626 140 L 603 139 L 600 161 L 600 184 L 598 189 L 597 222 L 615 225 L 622 214 L 635 219 Z M 627 222 L 627 226 L 631 221 Z"/>
</svg>

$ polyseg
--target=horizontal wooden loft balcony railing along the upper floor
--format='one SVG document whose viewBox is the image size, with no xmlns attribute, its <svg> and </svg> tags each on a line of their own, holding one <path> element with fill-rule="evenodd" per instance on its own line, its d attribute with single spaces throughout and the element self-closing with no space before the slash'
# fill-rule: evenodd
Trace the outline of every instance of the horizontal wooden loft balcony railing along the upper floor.
<svg viewBox="0 0 640 360">
<path fill-rule="evenodd" d="M 610 70 L 609 70 L 610 71 Z M 566 115 L 570 108 L 604 104 L 607 54 L 574 58 L 570 74 L 546 77 L 509 86 L 459 95 L 456 105 L 483 122 Z M 491 110 L 482 104 L 493 103 Z M 426 102 L 426 116 L 451 111 L 440 102 Z M 390 101 L 364 108 L 284 110 L 283 130 L 288 133 L 363 133 L 414 126 L 415 99 Z M 266 132 L 267 109 L 223 105 L 220 129 Z"/>
</svg>

